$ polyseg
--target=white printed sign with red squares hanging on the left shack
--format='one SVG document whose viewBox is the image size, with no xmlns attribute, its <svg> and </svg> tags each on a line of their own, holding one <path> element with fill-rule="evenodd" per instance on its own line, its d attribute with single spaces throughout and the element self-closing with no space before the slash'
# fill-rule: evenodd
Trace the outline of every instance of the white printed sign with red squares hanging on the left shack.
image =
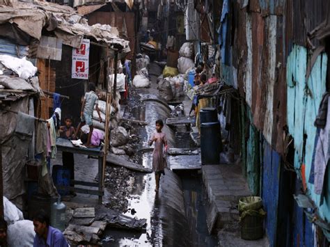
<svg viewBox="0 0 330 247">
<path fill-rule="evenodd" d="M 79 49 L 72 48 L 72 78 L 88 80 L 89 40 L 84 39 Z"/>
</svg>

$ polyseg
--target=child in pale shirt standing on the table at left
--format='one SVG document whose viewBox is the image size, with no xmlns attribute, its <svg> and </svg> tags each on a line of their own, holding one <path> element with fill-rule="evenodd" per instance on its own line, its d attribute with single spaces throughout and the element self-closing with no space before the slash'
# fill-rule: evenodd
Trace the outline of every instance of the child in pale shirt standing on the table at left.
<svg viewBox="0 0 330 247">
<path fill-rule="evenodd" d="M 79 130 L 85 124 L 87 124 L 89 126 L 90 132 L 88 134 L 87 143 L 84 143 L 84 145 L 86 145 L 86 147 L 89 147 L 89 145 L 91 145 L 91 136 L 93 133 L 94 105 L 95 105 L 97 114 L 99 115 L 100 122 L 102 122 L 100 109 L 99 109 L 99 99 L 95 93 L 95 84 L 93 82 L 89 83 L 88 90 L 89 91 L 88 91 L 88 93 L 85 94 L 84 100 L 81 105 L 81 113 L 80 113 L 81 122 L 79 123 L 77 131 L 74 134 L 75 136 L 77 136 L 77 133 L 79 133 Z"/>
</svg>

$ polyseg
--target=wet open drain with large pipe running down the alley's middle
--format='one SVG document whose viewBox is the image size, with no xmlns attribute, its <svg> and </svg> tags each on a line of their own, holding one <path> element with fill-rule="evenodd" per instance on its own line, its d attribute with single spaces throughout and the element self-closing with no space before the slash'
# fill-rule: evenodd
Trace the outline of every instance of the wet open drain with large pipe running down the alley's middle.
<svg viewBox="0 0 330 247">
<path fill-rule="evenodd" d="M 141 129 L 141 148 L 146 148 L 155 121 L 166 120 L 169 113 L 168 108 L 153 101 L 146 102 L 146 109 L 134 112 L 139 120 L 150 123 Z M 167 126 L 163 130 L 171 147 L 192 148 L 188 134 L 175 134 Z M 151 150 L 141 152 L 141 162 L 146 168 L 152 167 Z M 198 170 L 181 170 L 175 174 L 167 169 L 165 173 L 158 194 L 153 173 L 134 177 L 135 188 L 130 191 L 128 207 L 134 209 L 137 218 L 147 219 L 146 231 L 106 230 L 103 246 L 217 246 L 217 238 L 207 232 L 207 199 Z M 132 216 L 132 210 L 126 214 Z"/>
</svg>

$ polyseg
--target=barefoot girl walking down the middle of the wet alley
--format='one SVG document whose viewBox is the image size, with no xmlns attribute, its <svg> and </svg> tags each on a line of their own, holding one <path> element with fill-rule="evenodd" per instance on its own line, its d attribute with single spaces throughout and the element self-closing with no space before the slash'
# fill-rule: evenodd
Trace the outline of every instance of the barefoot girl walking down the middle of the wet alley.
<svg viewBox="0 0 330 247">
<path fill-rule="evenodd" d="M 163 127 L 164 127 L 164 122 L 160 119 L 157 120 L 156 132 L 152 133 L 152 136 L 149 141 L 150 146 L 152 145 L 153 142 L 155 142 L 154 152 L 152 153 L 152 170 L 155 172 L 156 192 L 158 192 L 159 190 L 160 176 L 162 174 L 165 175 L 164 169 L 166 168 L 166 160 L 164 159 L 164 152 L 167 152 L 167 140 L 166 140 L 166 134 L 162 132 Z"/>
</svg>

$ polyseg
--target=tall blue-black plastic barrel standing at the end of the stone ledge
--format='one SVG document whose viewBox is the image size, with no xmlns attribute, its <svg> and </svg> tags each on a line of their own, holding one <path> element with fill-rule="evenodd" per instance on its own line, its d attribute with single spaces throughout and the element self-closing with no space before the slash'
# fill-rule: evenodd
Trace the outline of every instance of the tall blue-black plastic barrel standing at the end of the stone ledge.
<svg viewBox="0 0 330 247">
<path fill-rule="evenodd" d="M 201 160 L 203 165 L 220 163 L 222 150 L 221 130 L 219 122 L 201 124 Z"/>
</svg>

